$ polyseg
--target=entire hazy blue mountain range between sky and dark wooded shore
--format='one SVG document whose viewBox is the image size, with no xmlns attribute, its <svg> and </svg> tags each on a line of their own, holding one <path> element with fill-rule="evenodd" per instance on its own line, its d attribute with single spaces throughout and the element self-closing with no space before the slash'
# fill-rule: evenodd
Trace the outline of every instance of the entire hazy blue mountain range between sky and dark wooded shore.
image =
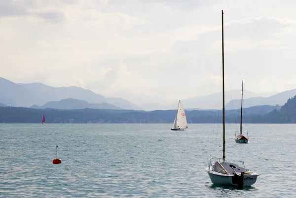
<svg viewBox="0 0 296 198">
<path fill-rule="evenodd" d="M 77 86 L 53 87 L 42 83 L 14 83 L 0 78 L 0 103 L 1 106 L 32 107 L 32 108 L 103 108 L 103 109 L 126 109 L 126 110 L 174 110 L 177 109 L 178 101 L 169 104 L 159 100 L 155 102 L 152 97 L 143 94 L 129 95 L 122 93 L 130 101 L 120 97 L 105 97 L 91 90 Z M 296 95 L 296 89 L 287 90 L 269 97 L 261 97 L 259 94 L 244 90 L 243 107 L 261 105 L 284 105 L 285 102 Z M 266 96 L 266 95 L 265 95 Z M 65 100 L 66 99 L 66 100 Z M 76 99 L 76 100 L 74 100 Z M 181 98 L 182 99 L 182 98 Z M 151 100 L 151 101 L 149 101 Z M 134 101 L 137 104 L 133 103 Z M 139 104 L 140 102 L 143 102 Z M 50 103 L 49 103 L 50 102 Z M 67 104 L 66 104 L 67 103 Z M 69 104 L 68 104 L 69 103 Z M 222 109 L 222 93 L 200 95 L 182 99 L 185 109 L 213 110 Z M 241 90 L 225 92 L 225 109 L 239 109 L 241 105 Z M 64 104 L 64 105 L 62 105 Z M 76 107 L 75 107 L 76 106 Z"/>
</svg>

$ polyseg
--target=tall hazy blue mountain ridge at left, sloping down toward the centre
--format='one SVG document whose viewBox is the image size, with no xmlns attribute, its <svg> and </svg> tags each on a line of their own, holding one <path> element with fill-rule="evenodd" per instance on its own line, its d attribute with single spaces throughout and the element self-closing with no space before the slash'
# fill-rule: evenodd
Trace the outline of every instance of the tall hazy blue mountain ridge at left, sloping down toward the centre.
<svg viewBox="0 0 296 198">
<path fill-rule="evenodd" d="M 106 98 L 81 87 L 52 87 L 37 82 L 29 84 L 14 83 L 10 80 L 0 78 L 0 103 L 7 106 L 42 106 L 47 102 L 59 101 L 66 98 L 85 100 L 88 103 L 108 103 L 119 109 L 142 110 L 139 106 L 123 98 Z"/>
</svg>

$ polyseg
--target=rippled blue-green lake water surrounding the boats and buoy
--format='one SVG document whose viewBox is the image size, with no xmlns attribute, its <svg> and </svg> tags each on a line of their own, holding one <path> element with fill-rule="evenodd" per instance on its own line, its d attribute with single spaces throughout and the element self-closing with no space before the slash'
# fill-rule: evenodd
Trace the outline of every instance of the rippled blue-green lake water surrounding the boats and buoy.
<svg viewBox="0 0 296 198">
<path fill-rule="evenodd" d="M 296 124 L 244 124 L 249 144 L 226 124 L 226 160 L 259 174 L 243 190 L 204 171 L 222 157 L 221 124 L 171 125 L 0 124 L 0 197 L 296 197 Z"/>
</svg>

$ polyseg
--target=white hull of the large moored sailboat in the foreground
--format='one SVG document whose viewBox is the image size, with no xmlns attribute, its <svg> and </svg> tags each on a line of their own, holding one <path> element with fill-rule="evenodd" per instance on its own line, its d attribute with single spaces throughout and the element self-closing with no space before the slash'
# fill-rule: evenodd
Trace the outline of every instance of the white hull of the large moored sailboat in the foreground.
<svg viewBox="0 0 296 198">
<path fill-rule="evenodd" d="M 217 172 L 210 172 L 209 168 L 206 168 L 205 171 L 209 174 L 211 182 L 220 186 L 252 186 L 257 181 L 257 174 L 246 174 L 243 178 L 240 178 L 242 183 L 238 183 L 234 175 L 225 175 Z"/>
</svg>

